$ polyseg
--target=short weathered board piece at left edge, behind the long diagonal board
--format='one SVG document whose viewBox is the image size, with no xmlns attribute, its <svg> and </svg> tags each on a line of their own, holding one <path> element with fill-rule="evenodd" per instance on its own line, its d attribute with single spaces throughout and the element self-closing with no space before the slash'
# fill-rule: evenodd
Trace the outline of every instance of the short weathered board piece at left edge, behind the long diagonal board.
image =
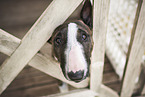
<svg viewBox="0 0 145 97">
<path fill-rule="evenodd" d="M 10 56 L 20 44 L 20 39 L 0 29 L 0 52 Z"/>
</svg>

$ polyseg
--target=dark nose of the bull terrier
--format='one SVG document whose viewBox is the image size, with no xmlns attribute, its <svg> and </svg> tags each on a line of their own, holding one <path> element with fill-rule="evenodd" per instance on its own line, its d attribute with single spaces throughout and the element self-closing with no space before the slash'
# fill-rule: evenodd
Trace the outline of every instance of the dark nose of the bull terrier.
<svg viewBox="0 0 145 97">
<path fill-rule="evenodd" d="M 80 82 L 82 79 L 83 79 L 83 76 L 84 76 L 84 71 L 77 71 L 77 72 L 69 72 L 68 73 L 68 77 L 72 80 L 72 81 L 75 81 L 75 82 Z"/>
</svg>

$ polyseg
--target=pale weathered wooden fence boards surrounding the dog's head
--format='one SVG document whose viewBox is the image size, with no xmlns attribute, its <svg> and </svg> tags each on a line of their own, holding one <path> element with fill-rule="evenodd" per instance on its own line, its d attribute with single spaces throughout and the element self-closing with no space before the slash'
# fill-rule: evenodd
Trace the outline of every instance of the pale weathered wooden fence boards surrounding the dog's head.
<svg viewBox="0 0 145 97">
<path fill-rule="evenodd" d="M 94 48 L 92 52 L 90 78 L 80 83 L 66 80 L 63 77 L 58 63 L 51 58 L 51 52 L 45 51 L 45 48 L 51 49 L 51 45 L 46 43 L 46 41 L 50 38 L 53 30 L 58 25 L 62 24 L 82 1 L 83 0 L 53 0 L 22 40 L 0 30 L 0 52 L 10 56 L 0 67 L 0 94 L 28 64 L 77 88 L 83 88 L 90 84 L 90 89 L 79 89 L 74 92 L 57 94 L 55 96 L 130 97 L 132 95 L 135 80 L 140 73 L 141 57 L 145 49 L 144 1 L 141 3 L 142 6 L 140 5 L 136 14 L 121 95 L 118 95 L 115 91 L 102 84 L 110 0 L 94 0 Z M 43 54 L 37 53 L 39 50 Z"/>
</svg>

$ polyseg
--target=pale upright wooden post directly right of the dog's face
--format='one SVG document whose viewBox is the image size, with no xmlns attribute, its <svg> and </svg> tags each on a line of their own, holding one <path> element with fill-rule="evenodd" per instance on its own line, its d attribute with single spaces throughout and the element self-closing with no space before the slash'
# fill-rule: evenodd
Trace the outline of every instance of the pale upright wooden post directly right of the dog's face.
<svg viewBox="0 0 145 97">
<path fill-rule="evenodd" d="M 102 83 L 105 41 L 110 0 L 94 0 L 93 41 L 90 89 L 99 91 Z"/>
</svg>

